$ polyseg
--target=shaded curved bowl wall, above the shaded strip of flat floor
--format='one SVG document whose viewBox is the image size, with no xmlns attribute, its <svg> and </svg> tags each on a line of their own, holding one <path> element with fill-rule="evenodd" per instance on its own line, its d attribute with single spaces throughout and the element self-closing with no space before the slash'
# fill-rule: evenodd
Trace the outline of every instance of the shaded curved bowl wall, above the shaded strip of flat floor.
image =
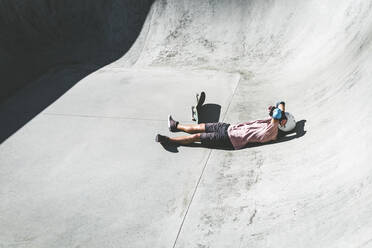
<svg viewBox="0 0 372 248">
<path fill-rule="evenodd" d="M 152 2 L 2 0 L 0 99 L 54 67 L 102 66 L 119 58 L 136 40 Z"/>
</svg>

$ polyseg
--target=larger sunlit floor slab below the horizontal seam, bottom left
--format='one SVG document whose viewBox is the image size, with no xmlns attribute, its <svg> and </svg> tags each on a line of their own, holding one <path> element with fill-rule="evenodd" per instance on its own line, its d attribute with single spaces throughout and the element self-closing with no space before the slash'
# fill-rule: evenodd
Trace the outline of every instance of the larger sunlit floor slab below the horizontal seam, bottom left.
<svg viewBox="0 0 372 248">
<path fill-rule="evenodd" d="M 1 149 L 1 245 L 171 246 L 208 150 L 165 156 L 149 142 L 165 125 L 50 115 L 29 123 Z"/>
</svg>

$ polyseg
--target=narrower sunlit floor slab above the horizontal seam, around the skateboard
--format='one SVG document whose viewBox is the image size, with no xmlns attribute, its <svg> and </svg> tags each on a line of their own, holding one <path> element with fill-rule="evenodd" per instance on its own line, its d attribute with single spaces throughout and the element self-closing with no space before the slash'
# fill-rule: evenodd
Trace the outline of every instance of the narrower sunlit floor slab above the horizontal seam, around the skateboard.
<svg viewBox="0 0 372 248">
<path fill-rule="evenodd" d="M 167 116 L 191 123 L 196 93 L 208 92 L 205 104 L 221 105 L 221 118 L 240 79 L 216 71 L 102 69 L 88 76 L 44 113 L 157 120 Z M 87 94 L 86 92 L 89 92 Z"/>
</svg>

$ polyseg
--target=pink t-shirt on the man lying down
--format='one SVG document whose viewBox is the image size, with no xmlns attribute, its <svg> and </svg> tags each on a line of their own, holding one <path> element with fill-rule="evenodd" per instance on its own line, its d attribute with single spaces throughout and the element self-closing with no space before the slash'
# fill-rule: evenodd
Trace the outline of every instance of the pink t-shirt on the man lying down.
<svg viewBox="0 0 372 248">
<path fill-rule="evenodd" d="M 241 149 L 248 143 L 275 140 L 278 135 L 278 125 L 278 122 L 271 124 L 271 118 L 268 118 L 230 125 L 227 133 L 234 148 Z"/>
</svg>

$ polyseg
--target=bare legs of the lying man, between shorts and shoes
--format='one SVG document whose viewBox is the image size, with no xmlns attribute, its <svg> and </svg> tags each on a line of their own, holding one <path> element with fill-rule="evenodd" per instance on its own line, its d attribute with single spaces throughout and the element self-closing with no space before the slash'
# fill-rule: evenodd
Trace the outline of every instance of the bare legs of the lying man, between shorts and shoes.
<svg viewBox="0 0 372 248">
<path fill-rule="evenodd" d="M 190 133 L 192 135 L 188 136 L 181 136 L 181 137 L 174 137 L 169 138 L 169 141 L 181 144 L 181 145 L 189 145 L 194 142 L 200 142 L 200 133 L 205 132 L 205 124 L 181 124 L 177 125 L 177 129 L 186 133 Z"/>
</svg>

